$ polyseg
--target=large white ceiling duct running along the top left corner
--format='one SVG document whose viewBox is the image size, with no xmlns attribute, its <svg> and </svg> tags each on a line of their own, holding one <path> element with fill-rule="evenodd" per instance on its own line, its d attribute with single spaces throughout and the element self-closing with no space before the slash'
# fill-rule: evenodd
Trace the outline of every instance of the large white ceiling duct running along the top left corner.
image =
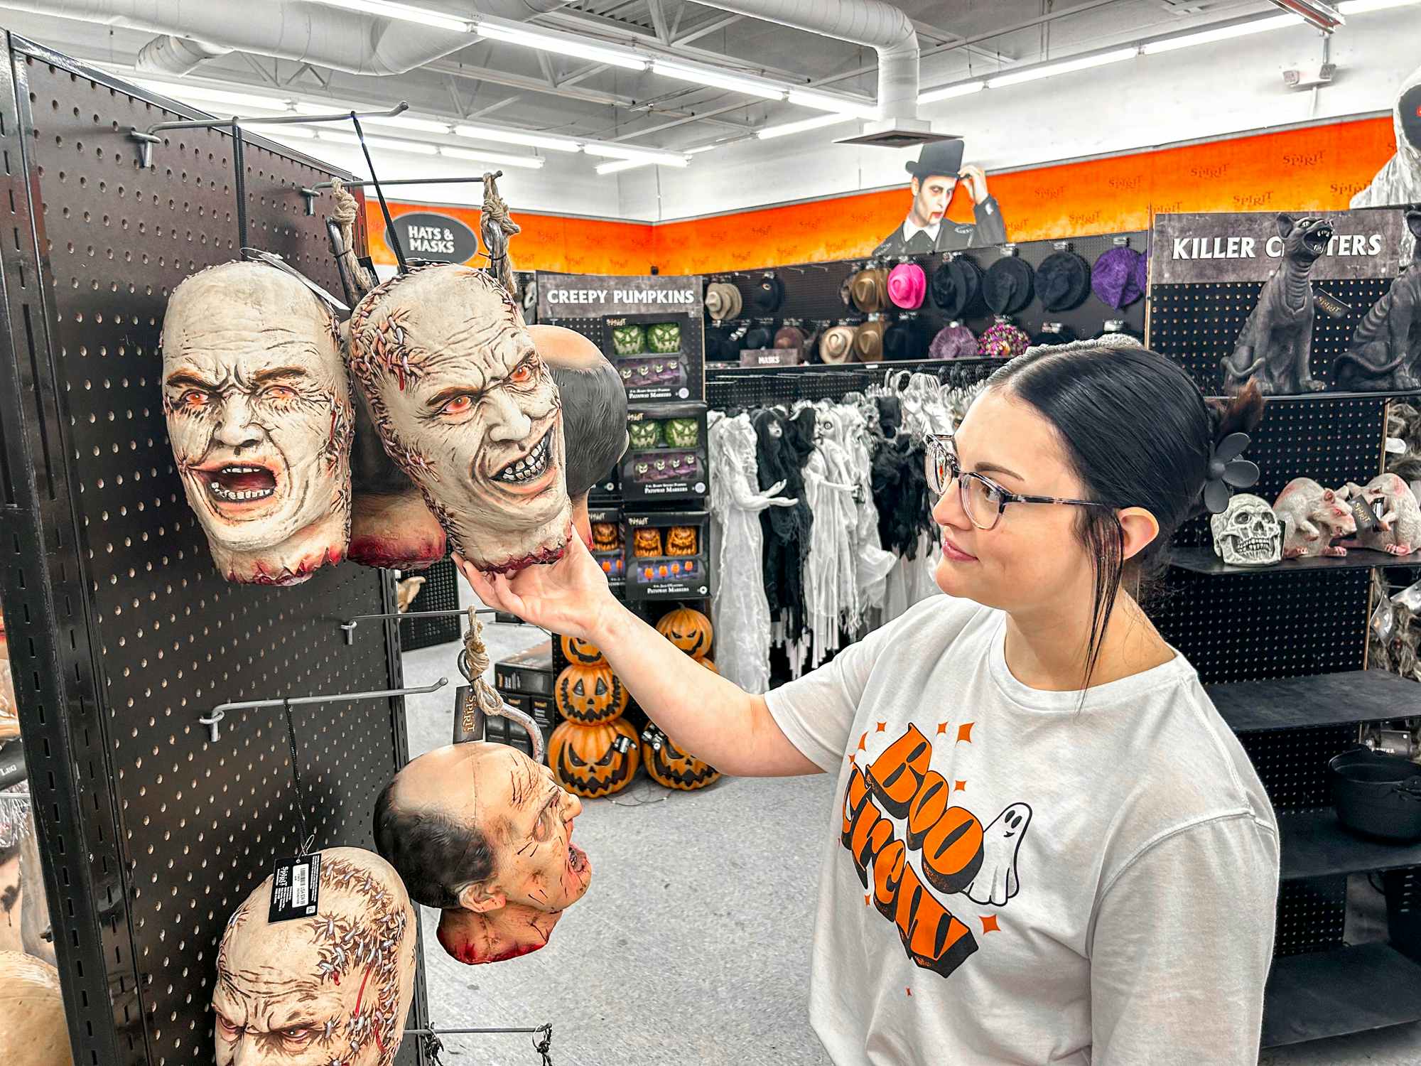
<svg viewBox="0 0 1421 1066">
<path fill-rule="evenodd" d="M 529 18 L 567 0 L 480 0 L 485 14 Z M 0 7 L 178 37 L 182 48 L 149 41 L 152 70 L 193 70 L 199 48 L 249 51 L 347 74 L 405 74 L 466 48 L 475 37 L 360 11 L 281 0 L 0 0 Z M 196 41 L 198 48 L 189 45 Z M 200 63 L 200 60 L 198 60 Z M 162 65 L 168 64 L 168 65 Z M 183 71 L 183 72 L 186 72 Z"/>
</svg>

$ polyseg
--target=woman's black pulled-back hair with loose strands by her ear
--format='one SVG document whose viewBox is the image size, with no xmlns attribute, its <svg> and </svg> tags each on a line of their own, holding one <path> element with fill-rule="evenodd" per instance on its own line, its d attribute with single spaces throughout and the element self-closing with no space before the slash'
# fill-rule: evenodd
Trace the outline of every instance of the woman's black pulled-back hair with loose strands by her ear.
<svg viewBox="0 0 1421 1066">
<path fill-rule="evenodd" d="M 1252 432 L 1263 398 L 1249 382 L 1231 399 L 1205 399 L 1182 367 L 1135 347 L 1046 348 L 1012 360 L 986 382 L 1030 404 L 1060 434 L 1084 497 L 1107 507 L 1079 507 L 1077 534 L 1096 574 L 1083 688 L 1100 657 L 1120 584 L 1147 584 L 1168 563 L 1169 540 L 1204 512 L 1204 482 L 1214 445 Z M 1160 534 L 1128 561 L 1115 516 L 1144 507 Z"/>
</svg>

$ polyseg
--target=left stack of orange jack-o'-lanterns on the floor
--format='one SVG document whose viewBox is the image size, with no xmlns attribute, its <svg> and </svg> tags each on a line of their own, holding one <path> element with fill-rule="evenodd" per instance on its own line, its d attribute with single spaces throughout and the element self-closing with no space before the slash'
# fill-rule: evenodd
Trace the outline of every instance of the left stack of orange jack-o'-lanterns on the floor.
<svg viewBox="0 0 1421 1066">
<path fill-rule="evenodd" d="M 621 715 L 628 694 L 597 645 L 563 637 L 567 667 L 553 696 L 566 721 L 547 742 L 547 765 L 568 792 L 588 799 L 621 792 L 637 776 L 637 731 Z"/>
</svg>

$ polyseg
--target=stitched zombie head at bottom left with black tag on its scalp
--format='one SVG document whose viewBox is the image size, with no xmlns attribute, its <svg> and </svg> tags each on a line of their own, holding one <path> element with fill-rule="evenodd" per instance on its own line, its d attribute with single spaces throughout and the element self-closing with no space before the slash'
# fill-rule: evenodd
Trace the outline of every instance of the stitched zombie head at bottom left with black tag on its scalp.
<svg viewBox="0 0 1421 1066">
<path fill-rule="evenodd" d="M 375 853 L 320 857 L 314 915 L 269 922 L 269 877 L 227 921 L 212 994 L 217 1066 L 395 1062 L 414 995 L 415 908 Z"/>
</svg>

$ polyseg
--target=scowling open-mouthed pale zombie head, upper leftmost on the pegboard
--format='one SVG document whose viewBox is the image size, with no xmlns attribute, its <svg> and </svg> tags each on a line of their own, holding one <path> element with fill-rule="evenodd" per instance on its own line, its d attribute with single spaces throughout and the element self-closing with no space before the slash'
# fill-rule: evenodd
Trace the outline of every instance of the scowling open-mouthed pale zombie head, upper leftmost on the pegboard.
<svg viewBox="0 0 1421 1066">
<path fill-rule="evenodd" d="M 335 321 L 294 277 L 225 263 L 173 290 L 163 414 L 188 503 L 232 581 L 345 557 L 351 404 Z"/>
</svg>

